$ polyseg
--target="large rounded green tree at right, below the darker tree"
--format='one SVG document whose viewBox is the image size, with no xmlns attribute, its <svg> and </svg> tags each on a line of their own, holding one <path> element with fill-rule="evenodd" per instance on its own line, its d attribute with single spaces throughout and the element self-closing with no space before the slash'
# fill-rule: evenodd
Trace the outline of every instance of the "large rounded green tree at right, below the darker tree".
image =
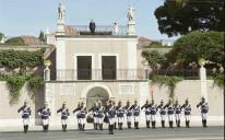
<svg viewBox="0 0 225 140">
<path fill-rule="evenodd" d="M 197 31 L 181 36 L 165 56 L 170 65 L 176 63 L 179 68 L 198 63 L 200 58 L 204 58 L 211 67 L 224 67 L 224 32 Z"/>
</svg>

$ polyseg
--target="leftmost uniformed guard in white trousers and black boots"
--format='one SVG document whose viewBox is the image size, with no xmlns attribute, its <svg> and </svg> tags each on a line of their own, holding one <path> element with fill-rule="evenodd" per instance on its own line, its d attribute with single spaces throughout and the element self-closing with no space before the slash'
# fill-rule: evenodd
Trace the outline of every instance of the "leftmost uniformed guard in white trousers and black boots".
<svg viewBox="0 0 225 140">
<path fill-rule="evenodd" d="M 27 102 L 24 102 L 24 105 L 17 110 L 19 114 L 22 115 L 23 118 L 23 128 L 26 133 L 28 130 L 29 117 L 32 115 L 31 107 L 27 106 Z"/>
</svg>

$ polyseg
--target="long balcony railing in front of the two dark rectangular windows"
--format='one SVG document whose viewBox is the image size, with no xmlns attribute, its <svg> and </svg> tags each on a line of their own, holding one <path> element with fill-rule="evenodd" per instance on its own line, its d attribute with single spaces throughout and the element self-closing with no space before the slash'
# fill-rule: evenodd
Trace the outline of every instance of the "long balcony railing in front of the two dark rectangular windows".
<svg viewBox="0 0 225 140">
<path fill-rule="evenodd" d="M 143 69 L 80 69 L 51 71 L 50 80 L 79 81 L 79 80 L 147 80 L 147 71 Z"/>
</svg>

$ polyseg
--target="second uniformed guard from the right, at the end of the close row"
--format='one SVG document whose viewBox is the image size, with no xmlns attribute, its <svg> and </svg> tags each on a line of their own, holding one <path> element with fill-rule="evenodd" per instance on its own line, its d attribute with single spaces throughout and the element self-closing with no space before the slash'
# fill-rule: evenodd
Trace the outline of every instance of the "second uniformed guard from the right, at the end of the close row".
<svg viewBox="0 0 225 140">
<path fill-rule="evenodd" d="M 191 118 L 191 105 L 189 104 L 188 98 L 186 103 L 181 106 L 185 109 L 185 117 L 186 117 L 186 127 L 190 128 L 190 118 Z"/>
</svg>

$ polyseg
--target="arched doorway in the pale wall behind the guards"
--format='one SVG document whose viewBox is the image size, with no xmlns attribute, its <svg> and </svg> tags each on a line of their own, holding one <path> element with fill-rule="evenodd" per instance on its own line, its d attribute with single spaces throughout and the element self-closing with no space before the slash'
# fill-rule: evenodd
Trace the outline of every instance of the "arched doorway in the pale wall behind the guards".
<svg viewBox="0 0 225 140">
<path fill-rule="evenodd" d="M 105 89 L 100 86 L 92 88 L 86 94 L 86 107 L 90 109 L 96 101 L 102 101 L 105 106 L 108 98 L 109 94 Z"/>
</svg>

